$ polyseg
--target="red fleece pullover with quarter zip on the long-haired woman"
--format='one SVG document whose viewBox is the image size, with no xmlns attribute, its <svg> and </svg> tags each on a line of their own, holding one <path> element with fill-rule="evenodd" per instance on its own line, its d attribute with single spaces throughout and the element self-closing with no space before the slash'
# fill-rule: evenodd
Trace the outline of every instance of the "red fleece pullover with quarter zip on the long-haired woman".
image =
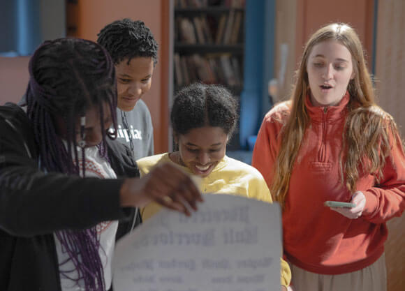
<svg viewBox="0 0 405 291">
<path fill-rule="evenodd" d="M 387 239 L 385 221 L 400 216 L 405 208 L 405 155 L 392 139 L 391 156 L 377 185 L 371 174 L 362 174 L 357 191 L 366 197 L 360 218 L 349 219 L 323 206 L 326 200 L 348 202 L 352 193 L 340 181 L 339 151 L 349 96 L 339 105 L 305 105 L 311 119 L 290 177 L 283 211 L 283 249 L 296 266 L 318 274 L 343 274 L 375 262 Z M 281 147 L 279 133 L 290 113 L 290 101 L 268 112 L 253 151 L 256 167 L 270 187 Z"/>
</svg>

